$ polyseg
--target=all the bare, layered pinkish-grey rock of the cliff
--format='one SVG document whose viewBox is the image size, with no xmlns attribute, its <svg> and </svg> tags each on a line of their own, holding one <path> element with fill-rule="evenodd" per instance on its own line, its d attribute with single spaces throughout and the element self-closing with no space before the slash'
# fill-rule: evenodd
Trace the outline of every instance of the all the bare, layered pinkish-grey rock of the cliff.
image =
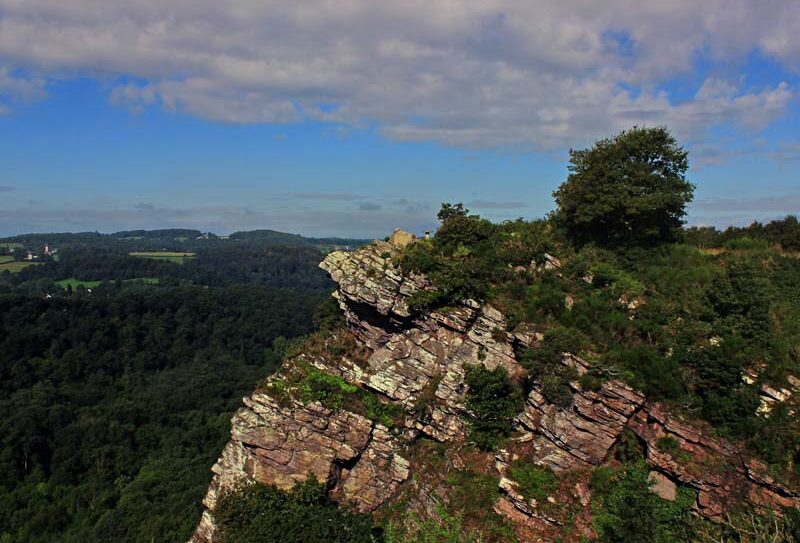
<svg viewBox="0 0 800 543">
<path fill-rule="evenodd" d="M 558 508 L 544 507 L 520 493 L 510 478 L 510 463 L 525 458 L 570 474 L 565 480 L 571 490 L 559 499 L 572 500 L 579 510 L 573 515 L 578 540 L 592 533 L 588 473 L 612 461 L 623 432 L 635 435 L 640 443 L 655 490 L 665 499 L 675 499 L 678 485 L 693 488 L 699 515 L 718 518 L 734 494 L 766 509 L 800 506 L 800 493 L 778 484 L 763 466 L 731 444 L 672 417 L 616 380 L 603 383 L 599 390 L 583 390 L 573 383 L 573 402 L 566 408 L 550 404 L 534 386 L 506 449 L 496 455 L 459 452 L 464 450 L 468 429 L 466 368 L 501 366 L 521 378 L 525 371 L 515 359 L 514 345 L 536 347 L 540 338 L 535 333 L 508 333 L 499 311 L 472 300 L 437 312 L 410 311 L 409 298 L 433 288 L 425 277 L 404 274 L 393 263 L 411 241 L 410 236 L 396 233 L 388 242 L 351 253 L 335 252 L 322 262 L 338 284 L 334 297 L 354 338 L 351 350 L 358 355 L 301 352 L 245 398 L 232 419 L 231 441 L 212 468 L 206 510 L 192 542 L 214 541 L 218 497 L 248 482 L 290 488 L 314 475 L 327 482 L 340 503 L 360 511 L 374 511 L 400 494 L 407 500 L 415 495 L 407 503 L 415 507 L 416 500 L 425 511 L 428 494 L 446 500 L 447 489 L 441 477 L 438 482 L 426 480 L 424 460 L 409 461 L 421 438 L 455 451 L 446 469 L 464 469 L 468 456 L 473 468 L 497 480 L 501 497 L 493 508 L 522 541 L 546 541 L 565 520 Z M 586 363 L 576 356 L 566 355 L 564 363 L 578 374 L 586 371 Z M 293 368 L 302 365 L 399 406 L 399 420 L 383 424 L 359 409 L 329 408 L 285 393 Z M 659 448 L 665 437 L 672 444 L 668 451 Z M 411 474 L 418 477 L 411 481 Z"/>
</svg>

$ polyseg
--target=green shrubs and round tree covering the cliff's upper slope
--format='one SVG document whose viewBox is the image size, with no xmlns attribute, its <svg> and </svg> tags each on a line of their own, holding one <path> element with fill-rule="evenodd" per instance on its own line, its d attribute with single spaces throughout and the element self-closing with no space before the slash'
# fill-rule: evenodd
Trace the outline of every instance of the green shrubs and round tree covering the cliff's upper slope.
<svg viewBox="0 0 800 543">
<path fill-rule="evenodd" d="M 796 477 L 797 410 L 766 418 L 757 409 L 762 384 L 781 388 L 800 373 L 800 259 L 791 253 L 800 227 L 789 217 L 739 238 L 729 230 L 718 251 L 687 243 L 697 239 L 680 228 L 691 200 L 687 167 L 668 132 L 635 128 L 571 153 L 547 220 L 492 224 L 444 204 L 436 235 L 400 259 L 437 287 L 412 303 L 489 301 L 510 331 L 535 325 L 544 334 L 518 359 L 551 402 L 571 401 L 577 375 L 561 358 L 580 353 L 592 363 L 585 386 L 622 377 Z M 748 241 L 758 232 L 786 245 Z"/>
</svg>

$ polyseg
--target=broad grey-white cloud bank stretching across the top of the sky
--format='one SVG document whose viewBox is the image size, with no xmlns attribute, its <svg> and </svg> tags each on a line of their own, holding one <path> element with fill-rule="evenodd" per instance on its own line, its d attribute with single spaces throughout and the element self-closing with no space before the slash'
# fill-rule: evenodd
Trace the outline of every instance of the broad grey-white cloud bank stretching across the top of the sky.
<svg viewBox="0 0 800 543">
<path fill-rule="evenodd" d="M 110 100 L 132 111 L 552 149 L 634 123 L 759 130 L 794 97 L 787 83 L 709 78 L 681 100 L 664 85 L 698 55 L 800 69 L 798 27 L 792 0 L 0 0 L 0 60 L 126 76 Z"/>
</svg>

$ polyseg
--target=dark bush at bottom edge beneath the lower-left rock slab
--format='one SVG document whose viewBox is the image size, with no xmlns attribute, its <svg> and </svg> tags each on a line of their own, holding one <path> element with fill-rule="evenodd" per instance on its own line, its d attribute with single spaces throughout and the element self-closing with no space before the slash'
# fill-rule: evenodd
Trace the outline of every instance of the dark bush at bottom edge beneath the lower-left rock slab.
<svg viewBox="0 0 800 543">
<path fill-rule="evenodd" d="M 369 515 L 341 509 L 313 477 L 283 492 L 253 484 L 224 494 L 214 510 L 221 543 L 373 543 Z"/>
</svg>

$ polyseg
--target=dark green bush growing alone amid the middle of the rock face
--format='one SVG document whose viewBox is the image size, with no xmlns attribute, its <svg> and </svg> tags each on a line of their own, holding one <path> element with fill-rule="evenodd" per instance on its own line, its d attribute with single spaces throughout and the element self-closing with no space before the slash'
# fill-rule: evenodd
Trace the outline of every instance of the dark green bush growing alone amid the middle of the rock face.
<svg viewBox="0 0 800 543">
<path fill-rule="evenodd" d="M 471 413 L 470 439 L 482 449 L 494 449 L 512 430 L 522 410 L 522 395 L 502 367 L 467 369 L 467 409 Z"/>
</svg>

